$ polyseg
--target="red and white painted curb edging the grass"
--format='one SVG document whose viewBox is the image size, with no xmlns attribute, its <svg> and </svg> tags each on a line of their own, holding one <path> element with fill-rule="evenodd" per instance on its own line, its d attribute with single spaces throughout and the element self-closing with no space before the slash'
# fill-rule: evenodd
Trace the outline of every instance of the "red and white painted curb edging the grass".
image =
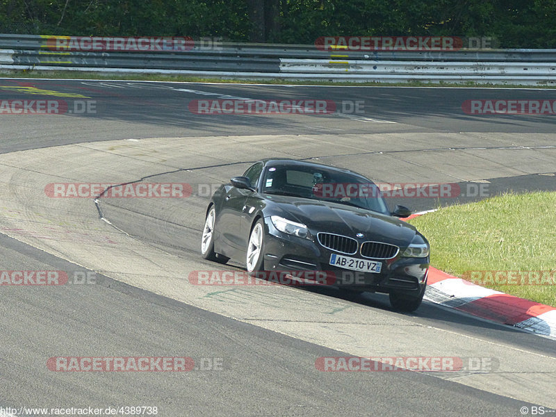
<svg viewBox="0 0 556 417">
<path fill-rule="evenodd" d="M 408 219 L 428 213 L 415 213 Z M 429 269 L 425 300 L 486 320 L 556 338 L 556 308 L 484 288 L 453 275 Z"/>
</svg>

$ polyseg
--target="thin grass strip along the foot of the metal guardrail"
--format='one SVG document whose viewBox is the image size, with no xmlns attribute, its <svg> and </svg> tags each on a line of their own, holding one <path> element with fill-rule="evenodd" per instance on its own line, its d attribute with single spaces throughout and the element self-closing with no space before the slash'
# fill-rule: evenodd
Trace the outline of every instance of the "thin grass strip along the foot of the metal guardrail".
<svg viewBox="0 0 556 417">
<path fill-rule="evenodd" d="M 1 71 L 1 78 L 47 78 L 47 79 L 92 79 L 92 80 L 138 80 L 138 81 L 179 81 L 188 83 L 243 83 L 243 84 L 289 84 L 289 85 L 359 85 L 359 86 L 402 86 L 402 87 L 480 87 L 480 88 L 556 88 L 556 85 L 493 85 L 479 84 L 473 82 L 466 83 L 423 83 L 413 81 L 411 83 L 367 83 L 353 81 L 292 81 L 285 79 L 224 79 L 207 78 L 199 76 L 185 75 L 164 75 L 164 74 L 106 74 L 101 72 L 81 72 L 81 71 L 34 71 L 17 70 Z"/>
</svg>

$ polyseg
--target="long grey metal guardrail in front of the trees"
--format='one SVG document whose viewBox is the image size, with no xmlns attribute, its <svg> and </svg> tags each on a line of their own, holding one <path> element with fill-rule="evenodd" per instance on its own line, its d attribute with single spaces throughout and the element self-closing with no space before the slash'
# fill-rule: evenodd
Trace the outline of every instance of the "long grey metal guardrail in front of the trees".
<svg viewBox="0 0 556 417">
<path fill-rule="evenodd" d="M 255 79 L 556 85 L 556 49 L 323 51 L 315 45 L 195 44 L 186 51 L 65 51 L 0 34 L 3 70 L 188 74 Z"/>
</svg>

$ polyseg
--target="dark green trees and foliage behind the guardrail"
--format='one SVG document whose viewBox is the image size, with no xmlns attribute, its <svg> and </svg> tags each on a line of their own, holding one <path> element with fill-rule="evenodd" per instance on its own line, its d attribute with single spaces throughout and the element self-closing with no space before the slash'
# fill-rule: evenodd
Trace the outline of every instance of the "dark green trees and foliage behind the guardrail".
<svg viewBox="0 0 556 417">
<path fill-rule="evenodd" d="M 556 0 L 0 0 L 0 33 L 312 44 L 327 35 L 491 36 L 556 48 Z"/>
</svg>

